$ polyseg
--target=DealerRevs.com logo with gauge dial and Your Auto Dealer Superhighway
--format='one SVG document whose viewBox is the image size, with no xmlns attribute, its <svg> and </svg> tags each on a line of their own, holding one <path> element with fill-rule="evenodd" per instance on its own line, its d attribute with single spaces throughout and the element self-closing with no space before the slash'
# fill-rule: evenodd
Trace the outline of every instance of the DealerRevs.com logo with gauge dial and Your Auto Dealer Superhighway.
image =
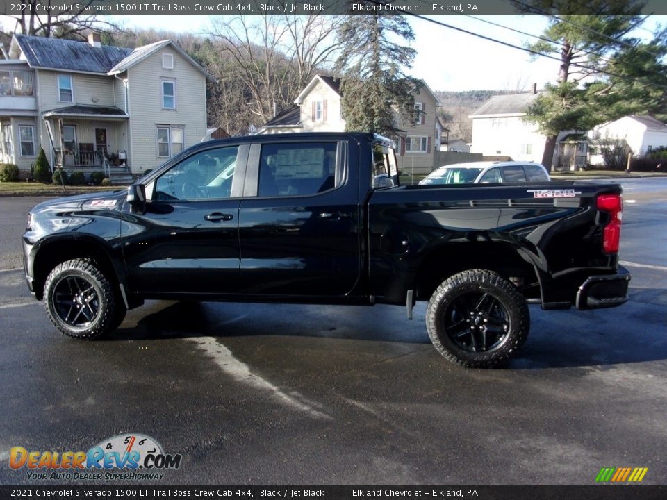
<svg viewBox="0 0 667 500">
<path fill-rule="evenodd" d="M 10 450 L 9 466 L 26 469 L 28 479 L 162 479 L 165 470 L 178 469 L 182 456 L 167 454 L 152 437 L 122 434 L 88 451 Z"/>
</svg>

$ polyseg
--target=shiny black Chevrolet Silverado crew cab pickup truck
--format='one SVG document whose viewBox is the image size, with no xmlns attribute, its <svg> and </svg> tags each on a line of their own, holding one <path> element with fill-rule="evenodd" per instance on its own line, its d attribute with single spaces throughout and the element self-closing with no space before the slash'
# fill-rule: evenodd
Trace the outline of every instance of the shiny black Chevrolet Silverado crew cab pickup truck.
<svg viewBox="0 0 667 500">
<path fill-rule="evenodd" d="M 393 143 L 361 133 L 197 144 L 127 190 L 47 201 L 23 237 L 28 287 L 89 339 L 144 299 L 429 301 L 436 349 L 469 367 L 525 342 L 528 303 L 627 300 L 619 185 L 399 185 Z"/>
</svg>

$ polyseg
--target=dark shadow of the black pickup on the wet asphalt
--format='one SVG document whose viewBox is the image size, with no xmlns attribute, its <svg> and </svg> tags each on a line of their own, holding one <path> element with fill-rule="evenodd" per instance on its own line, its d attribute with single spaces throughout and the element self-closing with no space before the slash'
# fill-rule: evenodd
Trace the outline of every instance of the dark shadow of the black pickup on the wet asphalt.
<svg viewBox="0 0 667 500">
<path fill-rule="evenodd" d="M 531 332 L 507 369 L 545 369 L 642 363 L 667 359 L 666 290 L 633 294 L 622 308 L 543 311 L 532 306 Z M 130 311 L 103 341 L 289 336 L 430 344 L 425 305 L 414 320 L 395 306 L 301 306 L 150 301 Z M 429 356 L 438 356 L 435 351 Z M 443 360 L 444 362 L 444 360 Z"/>
</svg>

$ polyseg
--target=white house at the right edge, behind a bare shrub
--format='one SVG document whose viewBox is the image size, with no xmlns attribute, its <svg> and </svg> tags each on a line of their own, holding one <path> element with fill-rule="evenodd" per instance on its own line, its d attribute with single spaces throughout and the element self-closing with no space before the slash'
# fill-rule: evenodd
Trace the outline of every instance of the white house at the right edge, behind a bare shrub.
<svg viewBox="0 0 667 500">
<path fill-rule="evenodd" d="M 667 147 L 667 125 L 650 116 L 627 116 L 593 128 L 588 138 L 593 153 L 605 143 L 625 141 L 634 156 L 641 156 Z M 589 161 L 593 165 L 603 163 L 600 154 L 591 154 Z"/>
</svg>

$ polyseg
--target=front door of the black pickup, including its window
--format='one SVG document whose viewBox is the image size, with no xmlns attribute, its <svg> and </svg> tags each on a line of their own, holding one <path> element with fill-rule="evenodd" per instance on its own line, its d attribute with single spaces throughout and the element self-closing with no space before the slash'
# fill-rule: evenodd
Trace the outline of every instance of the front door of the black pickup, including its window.
<svg viewBox="0 0 667 500">
<path fill-rule="evenodd" d="M 236 292 L 236 194 L 243 181 L 237 163 L 242 170 L 245 157 L 247 147 L 206 149 L 147 184 L 146 213 L 128 213 L 122 228 L 133 291 L 156 296 Z"/>
</svg>

